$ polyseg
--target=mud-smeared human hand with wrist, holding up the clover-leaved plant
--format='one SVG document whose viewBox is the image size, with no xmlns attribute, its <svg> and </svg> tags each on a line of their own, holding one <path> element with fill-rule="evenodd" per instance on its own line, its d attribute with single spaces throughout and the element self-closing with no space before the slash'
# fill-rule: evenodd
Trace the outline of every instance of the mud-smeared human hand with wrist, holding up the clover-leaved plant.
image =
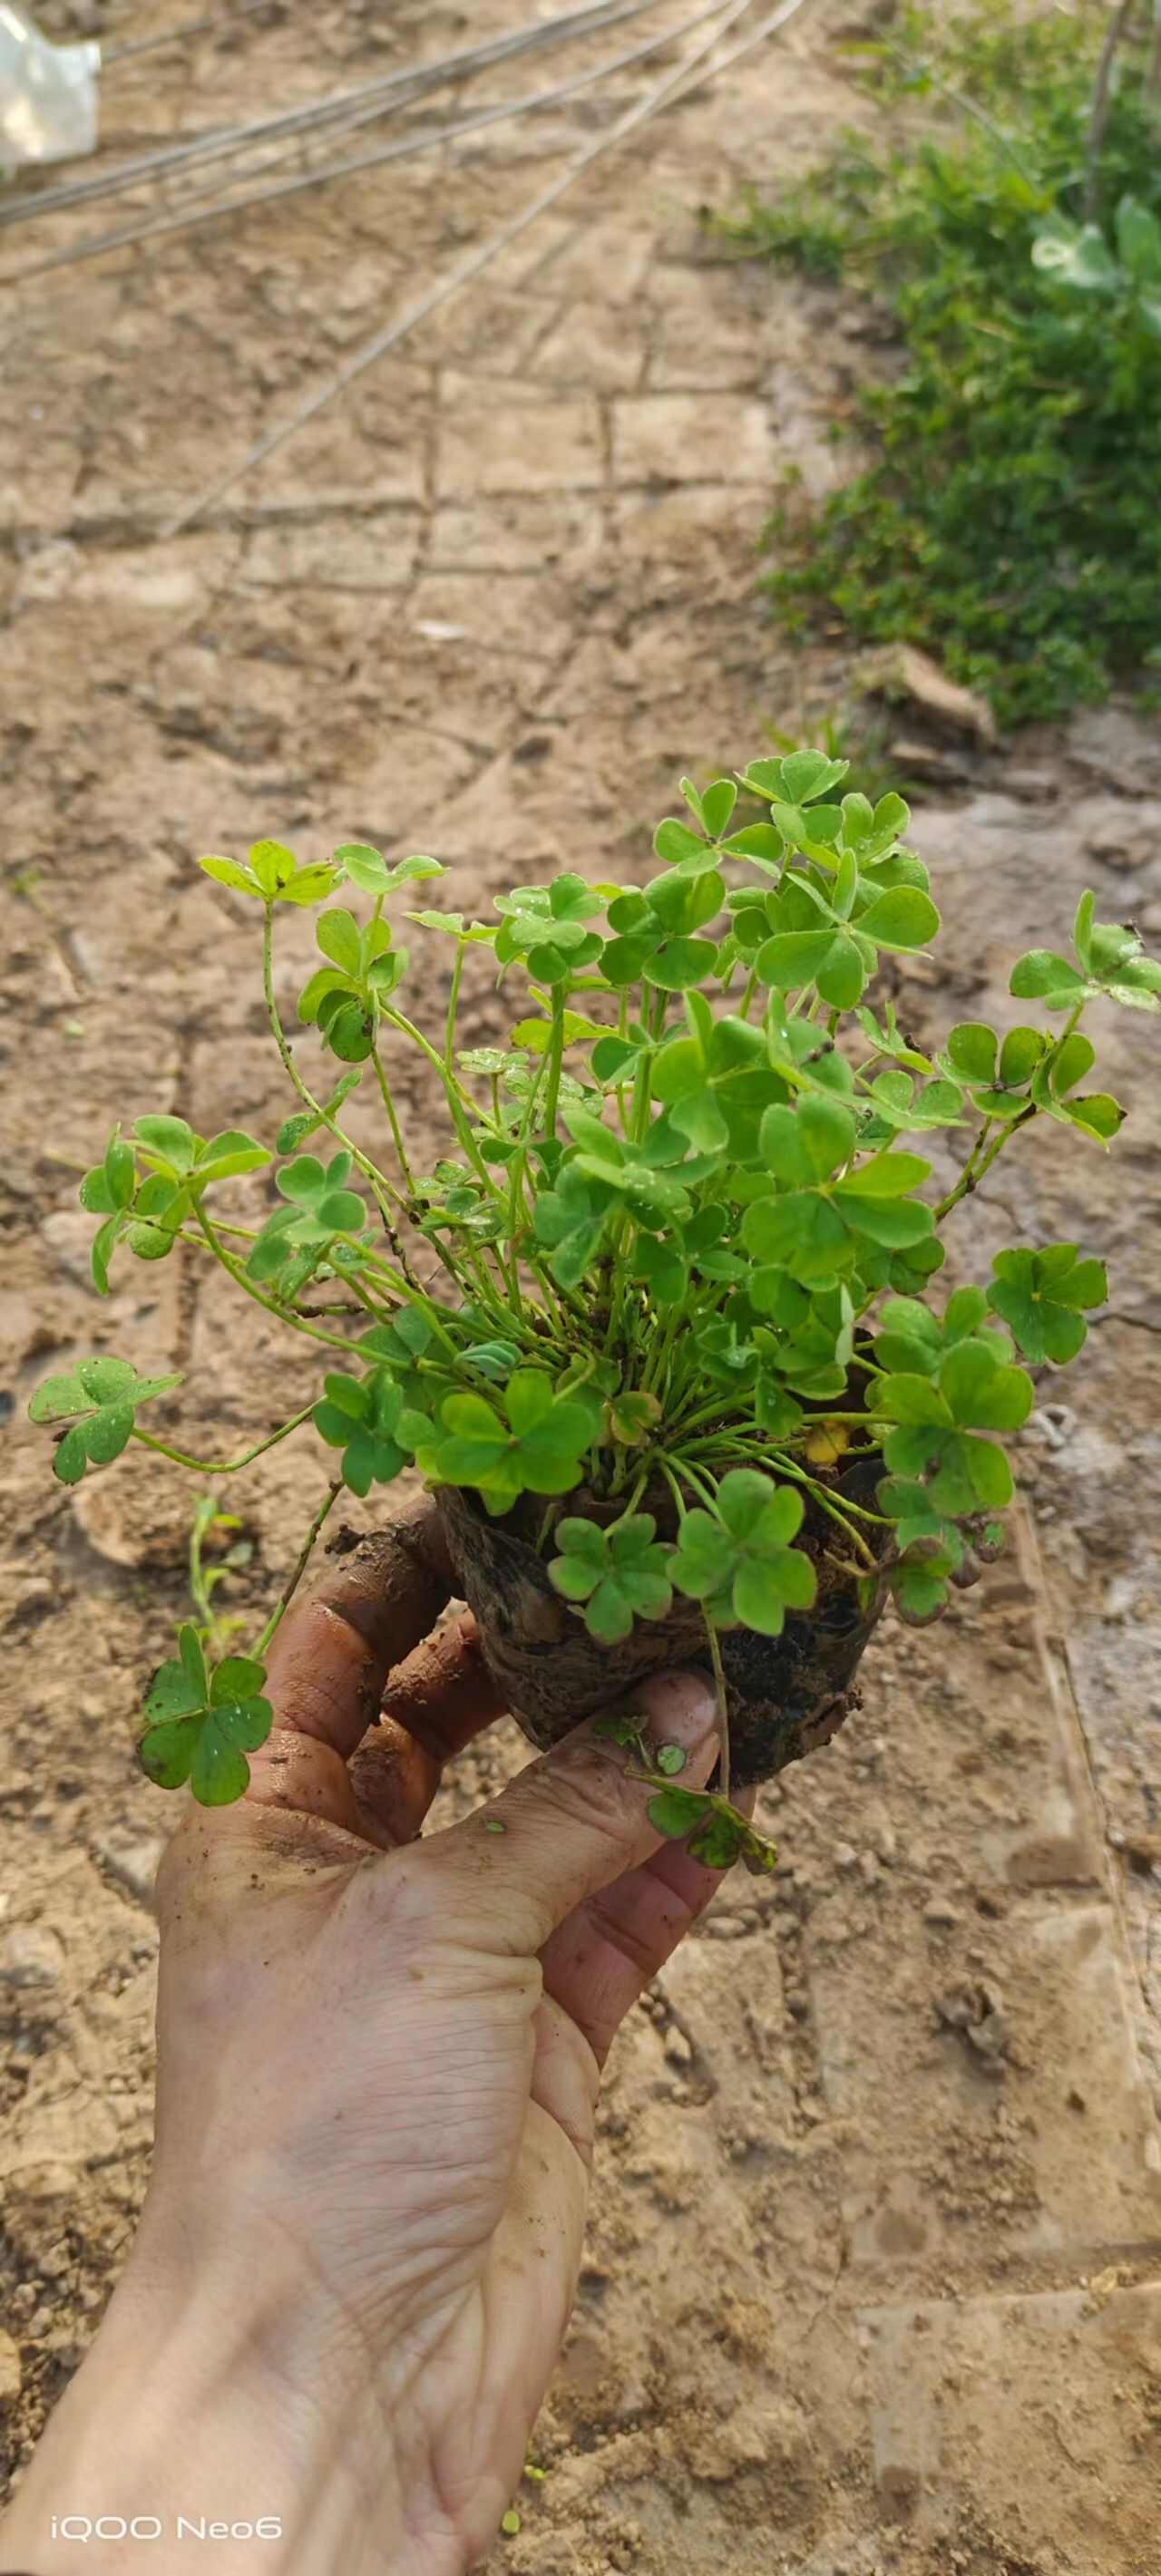
<svg viewBox="0 0 1161 2576">
<path fill-rule="evenodd" d="M 296 2576 L 461 2576 L 489 2545 L 574 2295 L 600 2069 L 718 1883 L 590 1726 L 414 1839 L 443 1759 L 497 1716 L 471 1618 L 427 1638 L 448 1595 L 420 1504 L 291 1610 L 250 1793 L 193 1808 L 160 1873 L 154 2177 L 98 2354 L 149 2494 L 180 2409 L 175 2509 L 201 2478 L 221 2519 L 278 2517 L 286 2561 L 263 2563 Z M 638 1703 L 703 1785 L 703 1677 Z M 36 2499 L 41 2522 L 162 2512 L 121 2470 L 116 2504 L 51 2488 L 70 2429 L 85 2476 L 108 2470 L 88 2372 L 5 2532 L 41 2568 Z"/>
</svg>

